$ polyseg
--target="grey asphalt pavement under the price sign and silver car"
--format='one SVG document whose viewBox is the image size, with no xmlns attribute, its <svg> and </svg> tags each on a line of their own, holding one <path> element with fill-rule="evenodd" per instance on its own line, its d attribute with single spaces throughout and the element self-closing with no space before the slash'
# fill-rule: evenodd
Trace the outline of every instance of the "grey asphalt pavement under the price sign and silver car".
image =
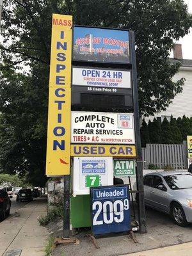
<svg viewBox="0 0 192 256">
<path fill-rule="evenodd" d="M 76 256 L 76 255 L 94 255 L 94 256 L 116 256 L 116 255 L 127 255 L 128 253 L 135 253 L 133 256 L 173 256 L 177 255 L 170 252 L 172 247 L 168 247 L 167 251 L 169 254 L 163 254 L 163 248 L 166 246 L 172 246 L 175 244 L 180 244 L 180 246 L 174 247 L 173 250 L 180 250 L 180 254 L 177 256 L 191 256 L 191 244 L 188 243 L 192 241 L 192 224 L 188 227 L 179 227 L 173 223 L 173 220 L 167 214 L 155 211 L 153 209 L 146 209 L 147 215 L 147 234 L 140 234 L 136 232 L 136 238 L 138 243 L 134 243 L 132 238 L 128 235 L 123 236 L 108 236 L 97 238 L 97 244 L 100 249 L 96 249 L 92 241 L 90 241 L 86 236 L 86 232 L 79 232 L 76 237 L 79 239 L 80 243 L 69 244 L 68 246 L 57 246 L 54 250 L 54 256 L 60 256 L 62 253 L 65 256 Z M 57 224 L 55 223 L 55 226 Z M 91 230 L 90 230 L 91 233 Z M 181 246 L 181 244 L 184 244 Z M 187 246 L 187 247 L 186 247 Z M 162 250 L 152 250 L 147 252 L 147 250 L 162 248 Z M 165 249 L 164 249 L 165 250 Z M 191 254 L 185 253 L 185 250 L 189 250 Z M 146 251 L 145 253 L 143 251 Z M 140 253 L 136 253 L 140 252 Z M 182 253 L 183 252 L 183 253 Z"/>
</svg>

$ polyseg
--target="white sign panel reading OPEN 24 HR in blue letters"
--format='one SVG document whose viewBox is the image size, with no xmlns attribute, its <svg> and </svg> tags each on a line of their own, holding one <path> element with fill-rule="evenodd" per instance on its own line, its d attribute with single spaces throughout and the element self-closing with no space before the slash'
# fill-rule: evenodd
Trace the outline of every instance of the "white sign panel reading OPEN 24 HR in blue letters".
<svg viewBox="0 0 192 256">
<path fill-rule="evenodd" d="M 72 68 L 72 84 L 79 86 L 95 86 L 95 90 L 92 88 L 95 92 L 99 92 L 98 87 L 131 88 L 131 72 L 74 67 Z M 100 92 L 106 92 L 104 88 L 100 89 Z M 113 92 L 116 92 L 116 90 Z"/>
</svg>

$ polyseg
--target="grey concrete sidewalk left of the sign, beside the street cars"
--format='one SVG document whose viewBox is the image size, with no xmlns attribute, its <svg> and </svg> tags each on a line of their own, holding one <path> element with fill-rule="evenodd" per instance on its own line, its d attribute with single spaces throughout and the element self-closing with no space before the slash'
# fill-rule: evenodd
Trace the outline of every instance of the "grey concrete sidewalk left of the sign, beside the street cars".
<svg viewBox="0 0 192 256">
<path fill-rule="evenodd" d="M 38 224 L 38 216 L 46 213 L 46 198 L 36 198 L 0 223 L 0 256 L 10 250 L 22 250 L 20 256 L 44 256 L 46 228 Z"/>
</svg>

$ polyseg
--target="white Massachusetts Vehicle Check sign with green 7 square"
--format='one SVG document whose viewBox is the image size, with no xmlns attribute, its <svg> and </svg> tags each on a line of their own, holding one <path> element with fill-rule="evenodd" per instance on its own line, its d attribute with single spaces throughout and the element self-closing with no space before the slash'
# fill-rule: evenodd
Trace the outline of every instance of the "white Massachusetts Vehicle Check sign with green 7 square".
<svg viewBox="0 0 192 256">
<path fill-rule="evenodd" d="M 74 157 L 74 195 L 88 195 L 90 187 L 113 184 L 113 157 Z"/>
</svg>

